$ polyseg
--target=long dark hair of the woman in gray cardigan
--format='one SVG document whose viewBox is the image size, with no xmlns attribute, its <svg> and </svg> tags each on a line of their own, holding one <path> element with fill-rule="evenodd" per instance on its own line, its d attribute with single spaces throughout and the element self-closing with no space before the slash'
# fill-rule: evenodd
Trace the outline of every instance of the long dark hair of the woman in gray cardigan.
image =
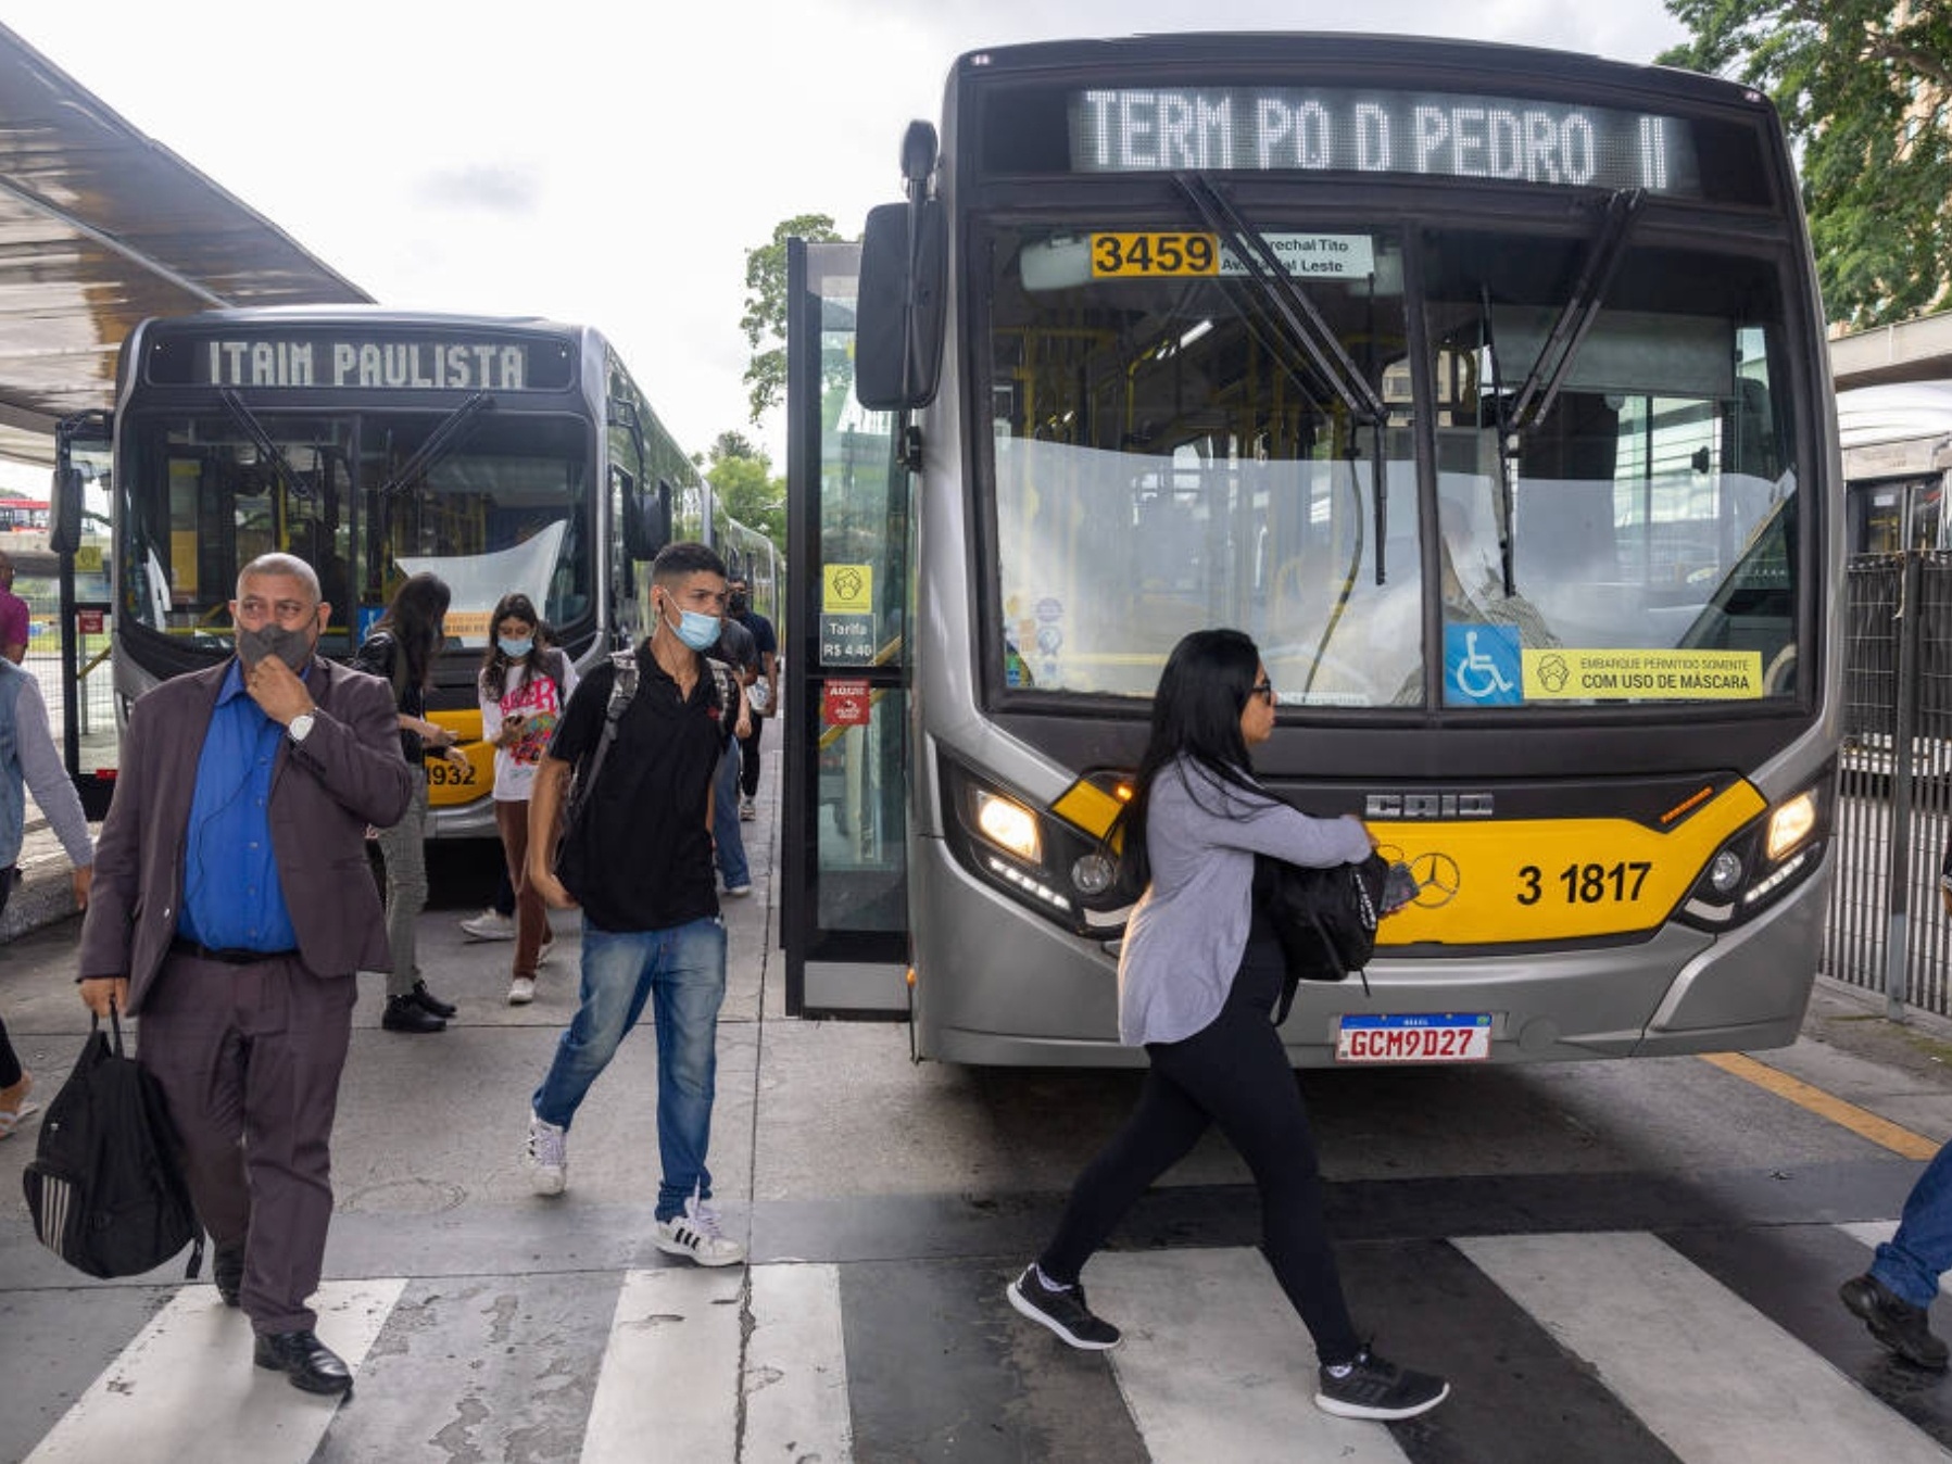
<svg viewBox="0 0 1952 1464">
<path fill-rule="evenodd" d="M 1173 759 L 1189 757 L 1218 783 L 1257 802 L 1273 802 L 1253 781 L 1247 740 L 1240 732 L 1240 714 L 1247 711 L 1259 670 L 1261 652 L 1241 630 L 1193 630 L 1165 658 L 1159 689 L 1152 697 L 1152 734 L 1132 779 L 1132 800 L 1118 810 L 1105 835 L 1107 841 L 1122 837 L 1120 863 L 1134 886 L 1150 878 L 1146 814 L 1152 785 Z"/>
</svg>

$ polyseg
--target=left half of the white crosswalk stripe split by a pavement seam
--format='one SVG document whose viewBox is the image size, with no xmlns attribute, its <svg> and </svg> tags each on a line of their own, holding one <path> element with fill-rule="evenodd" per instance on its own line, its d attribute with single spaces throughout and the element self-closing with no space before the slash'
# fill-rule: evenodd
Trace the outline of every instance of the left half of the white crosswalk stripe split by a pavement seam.
<svg viewBox="0 0 1952 1464">
<path fill-rule="evenodd" d="M 742 1265 L 681 1261 L 625 1273 L 590 1402 L 584 1464 L 738 1458 L 744 1300 Z"/>
</svg>

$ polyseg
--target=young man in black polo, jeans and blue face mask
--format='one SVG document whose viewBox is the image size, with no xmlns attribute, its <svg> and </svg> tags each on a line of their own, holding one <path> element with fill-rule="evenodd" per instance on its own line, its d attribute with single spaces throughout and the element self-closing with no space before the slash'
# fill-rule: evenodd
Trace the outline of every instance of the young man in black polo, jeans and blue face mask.
<svg viewBox="0 0 1952 1464">
<path fill-rule="evenodd" d="M 574 767 L 603 740 L 617 670 L 576 685 L 529 796 L 529 878 L 556 908 L 584 908 L 582 997 L 535 1089 L 527 1167 L 539 1195 L 568 1181 L 568 1128 L 597 1074 L 652 1003 L 658 1040 L 658 1249 L 736 1265 L 707 1202 L 726 929 L 712 878 L 712 775 L 724 752 L 716 679 L 703 650 L 726 607 L 724 564 L 705 545 L 668 545 L 650 566 L 656 629 L 636 650 L 636 693 L 554 869 L 558 810 Z"/>
</svg>

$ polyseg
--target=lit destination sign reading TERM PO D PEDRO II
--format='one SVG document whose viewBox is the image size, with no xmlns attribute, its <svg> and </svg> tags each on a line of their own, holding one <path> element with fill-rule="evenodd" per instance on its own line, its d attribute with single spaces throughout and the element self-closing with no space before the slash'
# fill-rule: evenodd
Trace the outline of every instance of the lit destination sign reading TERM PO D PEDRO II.
<svg viewBox="0 0 1952 1464">
<path fill-rule="evenodd" d="M 1282 86 L 1076 92 L 1072 170 L 1368 172 L 1696 195 L 1675 117 L 1517 98 Z"/>
</svg>

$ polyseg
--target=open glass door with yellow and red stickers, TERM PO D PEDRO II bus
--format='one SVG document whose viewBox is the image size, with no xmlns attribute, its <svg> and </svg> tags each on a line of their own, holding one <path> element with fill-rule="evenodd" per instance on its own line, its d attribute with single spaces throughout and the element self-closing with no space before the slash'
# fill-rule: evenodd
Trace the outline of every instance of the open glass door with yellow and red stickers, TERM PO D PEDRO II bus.
<svg viewBox="0 0 1952 1464">
<path fill-rule="evenodd" d="M 853 390 L 857 244 L 787 252 L 787 1011 L 908 1015 L 908 472 Z M 787 650 L 787 646 L 783 646 Z"/>
</svg>

